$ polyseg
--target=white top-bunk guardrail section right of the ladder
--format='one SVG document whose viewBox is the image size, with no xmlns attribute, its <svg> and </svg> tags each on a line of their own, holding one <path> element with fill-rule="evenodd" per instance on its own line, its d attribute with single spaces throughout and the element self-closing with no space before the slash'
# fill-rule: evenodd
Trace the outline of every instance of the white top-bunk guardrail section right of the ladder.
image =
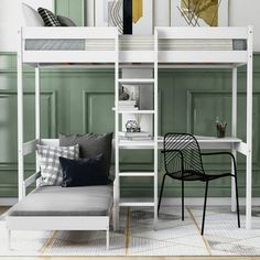
<svg viewBox="0 0 260 260">
<path fill-rule="evenodd" d="M 185 40 L 191 41 L 189 44 L 183 50 L 165 51 L 159 50 L 159 62 L 165 63 L 230 63 L 230 64 L 246 64 L 248 61 L 247 43 L 250 39 L 251 26 L 220 26 L 220 28 L 163 28 L 159 26 L 158 31 L 159 41 L 164 40 Z M 201 50 L 192 48 L 192 41 L 205 40 L 214 41 L 230 41 L 221 50 L 210 50 L 210 44 Z M 245 48 L 237 48 L 238 41 L 245 41 Z M 206 43 L 205 43 L 206 44 Z M 196 43 L 195 43 L 196 45 Z M 243 44 L 242 44 L 243 45 Z M 191 50 L 188 48 L 191 46 Z M 213 46 L 212 46 L 213 47 Z"/>
</svg>

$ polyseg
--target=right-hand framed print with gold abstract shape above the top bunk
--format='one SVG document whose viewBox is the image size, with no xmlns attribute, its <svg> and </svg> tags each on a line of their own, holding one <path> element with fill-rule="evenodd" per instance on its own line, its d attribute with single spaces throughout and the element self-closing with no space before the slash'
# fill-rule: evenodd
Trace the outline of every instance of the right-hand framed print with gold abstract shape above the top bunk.
<svg viewBox="0 0 260 260">
<path fill-rule="evenodd" d="M 171 26 L 227 26 L 228 0 L 170 0 Z"/>
</svg>

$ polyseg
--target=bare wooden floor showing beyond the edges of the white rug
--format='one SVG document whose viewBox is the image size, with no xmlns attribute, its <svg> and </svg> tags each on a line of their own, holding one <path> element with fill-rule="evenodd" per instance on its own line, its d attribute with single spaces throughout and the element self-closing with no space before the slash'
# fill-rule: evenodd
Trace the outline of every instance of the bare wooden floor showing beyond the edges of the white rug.
<svg viewBox="0 0 260 260">
<path fill-rule="evenodd" d="M 9 207 L 0 206 L 0 215 Z M 260 260 L 260 257 L 0 257 L 8 260 Z"/>
</svg>

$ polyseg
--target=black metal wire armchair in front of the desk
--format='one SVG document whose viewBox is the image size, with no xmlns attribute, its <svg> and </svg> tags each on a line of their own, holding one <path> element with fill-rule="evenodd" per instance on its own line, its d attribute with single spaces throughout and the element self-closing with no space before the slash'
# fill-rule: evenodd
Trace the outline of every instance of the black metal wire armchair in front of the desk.
<svg viewBox="0 0 260 260">
<path fill-rule="evenodd" d="M 219 177 L 232 176 L 235 177 L 235 184 L 236 184 L 237 218 L 238 218 L 238 227 L 240 228 L 237 165 L 236 165 L 236 160 L 232 153 L 230 152 L 202 153 L 196 138 L 189 133 L 166 133 L 164 136 L 162 153 L 164 154 L 165 174 L 163 175 L 163 181 L 162 181 L 162 186 L 161 186 L 161 192 L 160 192 L 160 199 L 159 199 L 159 205 L 158 205 L 158 213 L 161 206 L 164 181 L 166 176 L 174 180 L 180 180 L 182 182 L 182 220 L 184 220 L 184 182 L 185 181 L 205 182 L 206 188 L 205 188 L 203 223 L 202 223 L 202 235 L 203 235 L 205 215 L 206 215 L 208 183 Z M 226 154 L 226 155 L 231 156 L 235 174 L 231 174 L 231 173 L 206 174 L 205 173 L 204 167 L 203 167 L 202 156 L 203 155 L 219 155 L 219 154 Z"/>
</svg>

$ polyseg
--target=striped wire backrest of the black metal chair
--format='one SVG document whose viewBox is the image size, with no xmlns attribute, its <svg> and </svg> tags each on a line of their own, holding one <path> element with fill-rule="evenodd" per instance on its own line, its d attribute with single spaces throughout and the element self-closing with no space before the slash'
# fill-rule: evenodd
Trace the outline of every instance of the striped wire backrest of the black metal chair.
<svg viewBox="0 0 260 260">
<path fill-rule="evenodd" d="M 201 149 L 196 138 L 189 133 L 164 136 L 164 165 L 167 173 L 196 172 L 205 174 Z"/>
</svg>

